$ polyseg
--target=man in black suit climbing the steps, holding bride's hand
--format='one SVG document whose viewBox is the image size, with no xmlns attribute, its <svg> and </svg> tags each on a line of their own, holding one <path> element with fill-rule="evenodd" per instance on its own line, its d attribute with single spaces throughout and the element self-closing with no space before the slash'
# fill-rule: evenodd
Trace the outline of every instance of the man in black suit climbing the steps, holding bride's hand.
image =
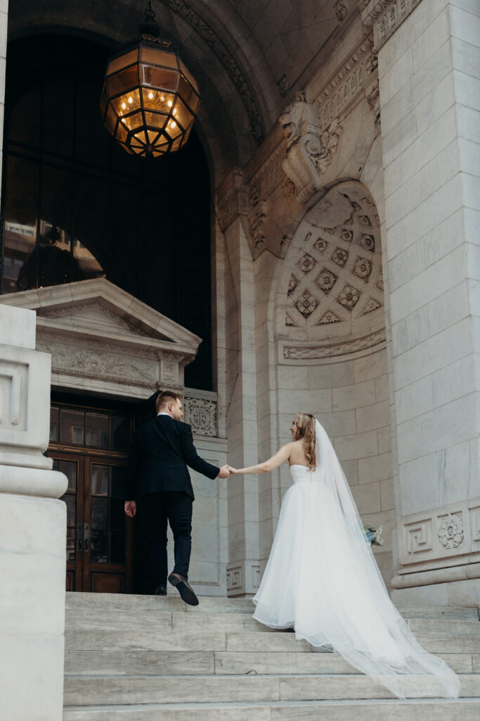
<svg viewBox="0 0 480 721">
<path fill-rule="evenodd" d="M 197 454 L 191 427 L 181 423 L 181 396 L 163 391 L 156 399 L 157 417 L 137 430 L 128 457 L 129 486 L 125 513 L 145 523 L 155 596 L 166 596 L 167 522 L 173 531 L 175 567 L 168 581 L 185 603 L 199 601 L 189 585 L 191 512 L 194 491 L 187 466 L 208 478 L 227 478 L 227 466 L 217 468 Z"/>
</svg>

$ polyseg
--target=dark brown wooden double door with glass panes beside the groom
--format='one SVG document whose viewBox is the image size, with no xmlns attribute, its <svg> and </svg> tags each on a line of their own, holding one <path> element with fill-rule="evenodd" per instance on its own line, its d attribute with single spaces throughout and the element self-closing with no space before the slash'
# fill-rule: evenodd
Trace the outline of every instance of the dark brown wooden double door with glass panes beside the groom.
<svg viewBox="0 0 480 721">
<path fill-rule="evenodd" d="M 66 588 L 96 593 L 131 593 L 133 527 L 124 514 L 124 457 L 94 451 L 50 449 L 53 469 L 68 488 Z"/>
</svg>

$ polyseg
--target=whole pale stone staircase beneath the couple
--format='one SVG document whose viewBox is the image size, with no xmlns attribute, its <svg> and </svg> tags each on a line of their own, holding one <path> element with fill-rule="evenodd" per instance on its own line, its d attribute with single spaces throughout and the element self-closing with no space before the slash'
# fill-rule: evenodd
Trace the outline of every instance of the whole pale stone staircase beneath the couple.
<svg viewBox="0 0 480 721">
<path fill-rule="evenodd" d="M 67 593 L 64 721 L 477 721 L 478 609 L 400 609 L 461 674 L 461 699 L 392 698 L 336 653 L 251 618 L 248 599 Z"/>
</svg>

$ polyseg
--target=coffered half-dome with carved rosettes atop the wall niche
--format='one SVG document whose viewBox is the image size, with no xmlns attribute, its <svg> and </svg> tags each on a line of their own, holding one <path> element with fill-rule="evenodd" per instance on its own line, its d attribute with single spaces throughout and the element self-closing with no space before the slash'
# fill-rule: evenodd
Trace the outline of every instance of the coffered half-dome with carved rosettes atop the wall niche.
<svg viewBox="0 0 480 721">
<path fill-rule="evenodd" d="M 307 211 L 276 290 L 274 335 L 291 360 L 339 360 L 385 340 L 380 220 L 356 180 Z"/>
</svg>

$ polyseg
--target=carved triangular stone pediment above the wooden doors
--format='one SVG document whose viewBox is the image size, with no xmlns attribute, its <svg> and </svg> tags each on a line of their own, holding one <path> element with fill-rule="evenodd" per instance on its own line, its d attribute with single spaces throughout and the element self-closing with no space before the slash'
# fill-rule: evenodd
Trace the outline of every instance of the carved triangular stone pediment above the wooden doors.
<svg viewBox="0 0 480 721">
<path fill-rule="evenodd" d="M 1 296 L 37 312 L 37 350 L 52 356 L 52 382 L 62 388 L 148 397 L 183 386 L 183 369 L 201 338 L 109 280 Z"/>
</svg>

